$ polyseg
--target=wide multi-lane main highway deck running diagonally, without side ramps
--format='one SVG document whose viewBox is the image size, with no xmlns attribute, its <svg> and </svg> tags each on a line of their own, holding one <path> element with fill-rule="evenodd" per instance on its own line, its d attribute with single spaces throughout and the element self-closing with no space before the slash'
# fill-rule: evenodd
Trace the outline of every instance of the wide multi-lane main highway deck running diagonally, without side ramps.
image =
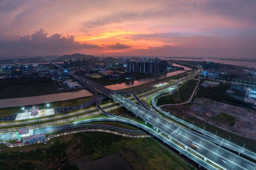
<svg viewBox="0 0 256 170">
<path fill-rule="evenodd" d="M 106 89 L 102 85 L 99 85 L 81 76 L 74 74 L 72 74 L 72 76 L 74 76 L 77 81 L 83 84 L 87 83 L 93 89 L 98 89 L 100 92 L 102 92 L 102 94 L 111 97 L 116 102 L 122 104 L 122 106 L 127 108 L 129 111 L 132 111 L 132 113 L 138 115 L 138 117 L 145 120 L 145 122 L 148 122 L 149 124 L 156 127 L 157 130 L 159 129 L 160 131 L 164 132 L 164 134 L 170 136 L 170 138 L 173 138 L 179 141 L 179 143 L 182 143 L 182 145 L 191 148 L 191 150 L 193 150 L 193 148 L 191 147 L 191 142 L 193 141 L 194 143 L 196 143 L 196 145 L 200 146 L 200 148 L 198 148 L 198 150 L 194 150 L 194 152 L 202 155 L 202 157 L 205 157 L 205 159 L 211 160 L 212 162 L 218 164 L 218 166 L 221 166 L 224 169 L 252 169 L 252 167 L 256 168 L 256 164 L 254 164 L 253 162 L 243 159 L 242 157 L 239 157 L 234 153 L 228 152 L 227 150 L 217 145 L 214 145 L 203 138 L 200 138 L 200 136 L 196 136 L 192 132 L 181 129 L 178 125 L 171 124 L 168 120 L 162 118 L 157 113 L 148 111 L 142 106 L 133 103 L 129 99 L 126 99 L 125 97 L 116 94 L 115 92 L 113 92 L 113 90 Z M 176 131 L 179 131 L 179 133 L 177 134 Z"/>
</svg>

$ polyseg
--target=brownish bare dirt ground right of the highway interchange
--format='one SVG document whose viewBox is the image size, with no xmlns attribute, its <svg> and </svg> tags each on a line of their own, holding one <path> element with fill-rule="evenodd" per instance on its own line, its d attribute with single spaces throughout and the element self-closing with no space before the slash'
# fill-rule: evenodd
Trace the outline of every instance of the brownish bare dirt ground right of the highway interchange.
<svg viewBox="0 0 256 170">
<path fill-rule="evenodd" d="M 246 138 L 256 139 L 256 111 L 212 101 L 204 97 L 196 98 L 191 104 L 172 106 L 167 110 L 171 111 L 171 113 L 175 113 L 175 115 L 179 115 L 179 117 L 186 118 L 190 122 L 193 122 L 195 118 L 197 118 L 197 120 L 195 120 L 197 124 L 203 124 L 202 121 L 204 121 L 225 131 Z M 218 117 L 221 112 L 236 117 L 236 123 L 234 125 L 228 125 L 228 122 L 218 120 L 216 117 Z"/>
</svg>

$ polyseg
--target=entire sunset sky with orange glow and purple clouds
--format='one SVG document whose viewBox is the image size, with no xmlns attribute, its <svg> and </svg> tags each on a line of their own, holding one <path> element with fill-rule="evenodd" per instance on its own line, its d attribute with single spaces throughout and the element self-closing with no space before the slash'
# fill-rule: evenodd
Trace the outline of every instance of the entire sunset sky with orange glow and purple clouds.
<svg viewBox="0 0 256 170">
<path fill-rule="evenodd" d="M 256 58 L 255 0 L 1 0 L 0 57 Z"/>
</svg>

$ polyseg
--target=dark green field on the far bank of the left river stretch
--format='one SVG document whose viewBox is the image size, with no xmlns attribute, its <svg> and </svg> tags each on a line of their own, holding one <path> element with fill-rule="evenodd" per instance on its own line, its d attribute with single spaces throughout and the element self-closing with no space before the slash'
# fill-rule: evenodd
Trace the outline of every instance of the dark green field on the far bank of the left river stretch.
<svg viewBox="0 0 256 170">
<path fill-rule="evenodd" d="M 58 87 L 51 78 L 21 78 L 0 80 L 0 90 L 0 99 L 7 99 L 52 94 Z"/>
</svg>

